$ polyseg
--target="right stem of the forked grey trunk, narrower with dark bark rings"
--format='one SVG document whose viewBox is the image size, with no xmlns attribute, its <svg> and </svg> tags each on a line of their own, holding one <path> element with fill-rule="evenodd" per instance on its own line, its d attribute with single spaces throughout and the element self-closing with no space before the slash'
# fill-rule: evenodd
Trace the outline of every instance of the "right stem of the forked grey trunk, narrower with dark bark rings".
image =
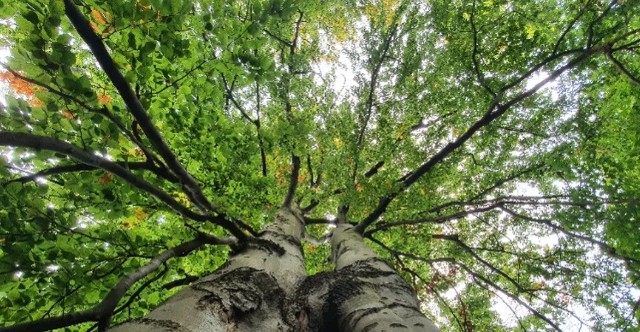
<svg viewBox="0 0 640 332">
<path fill-rule="evenodd" d="M 419 310 L 415 291 L 349 224 L 331 237 L 337 275 L 332 307 L 339 331 L 439 331 Z"/>
</svg>

